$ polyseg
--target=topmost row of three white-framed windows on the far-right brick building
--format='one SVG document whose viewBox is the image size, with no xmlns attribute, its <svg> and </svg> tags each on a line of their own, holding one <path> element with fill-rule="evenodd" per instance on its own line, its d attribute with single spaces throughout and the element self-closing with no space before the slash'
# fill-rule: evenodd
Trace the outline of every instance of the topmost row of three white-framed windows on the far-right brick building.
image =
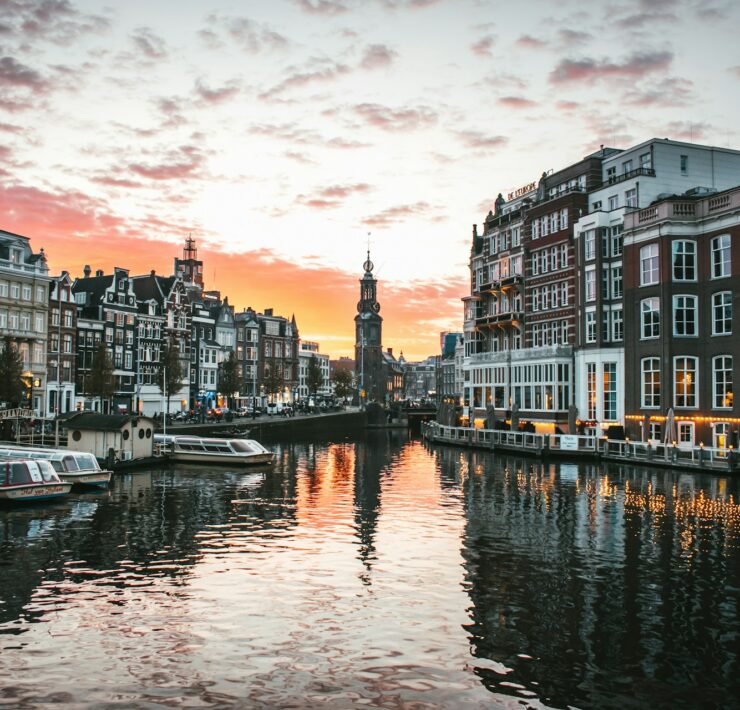
<svg viewBox="0 0 740 710">
<path fill-rule="evenodd" d="M 673 281 L 697 280 L 697 243 L 689 239 L 671 242 L 671 276 Z M 721 279 L 730 276 L 731 243 L 729 234 L 721 234 L 710 242 L 710 276 Z M 660 282 L 660 246 L 647 244 L 640 249 L 640 286 Z"/>
</svg>

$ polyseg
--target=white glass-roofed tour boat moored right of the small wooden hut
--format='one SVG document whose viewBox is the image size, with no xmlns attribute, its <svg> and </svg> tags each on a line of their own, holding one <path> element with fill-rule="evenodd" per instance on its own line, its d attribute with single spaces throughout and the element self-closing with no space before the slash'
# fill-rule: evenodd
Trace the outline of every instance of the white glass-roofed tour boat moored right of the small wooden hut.
<svg viewBox="0 0 740 710">
<path fill-rule="evenodd" d="M 159 444 L 173 461 L 223 463 L 246 466 L 272 463 L 274 454 L 254 439 L 206 439 L 200 436 L 155 434 Z"/>
</svg>

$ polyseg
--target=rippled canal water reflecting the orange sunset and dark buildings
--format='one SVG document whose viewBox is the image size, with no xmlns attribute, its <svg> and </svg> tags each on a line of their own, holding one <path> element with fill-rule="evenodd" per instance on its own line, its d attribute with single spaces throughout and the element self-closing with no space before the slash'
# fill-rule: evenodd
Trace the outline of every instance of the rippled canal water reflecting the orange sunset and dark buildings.
<svg viewBox="0 0 740 710">
<path fill-rule="evenodd" d="M 0 708 L 729 708 L 736 478 L 276 446 L 0 510 Z"/>
</svg>

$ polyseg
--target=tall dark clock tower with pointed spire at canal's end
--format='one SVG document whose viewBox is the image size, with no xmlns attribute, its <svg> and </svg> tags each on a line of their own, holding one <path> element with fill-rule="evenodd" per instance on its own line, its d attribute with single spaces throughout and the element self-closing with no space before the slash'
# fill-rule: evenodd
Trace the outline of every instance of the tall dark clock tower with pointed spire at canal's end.
<svg viewBox="0 0 740 710">
<path fill-rule="evenodd" d="M 383 319 L 379 315 L 378 281 L 373 276 L 370 250 L 362 265 L 365 273 L 360 279 L 360 300 L 355 316 L 355 374 L 360 390 L 364 390 L 364 402 L 383 402 Z"/>
</svg>

